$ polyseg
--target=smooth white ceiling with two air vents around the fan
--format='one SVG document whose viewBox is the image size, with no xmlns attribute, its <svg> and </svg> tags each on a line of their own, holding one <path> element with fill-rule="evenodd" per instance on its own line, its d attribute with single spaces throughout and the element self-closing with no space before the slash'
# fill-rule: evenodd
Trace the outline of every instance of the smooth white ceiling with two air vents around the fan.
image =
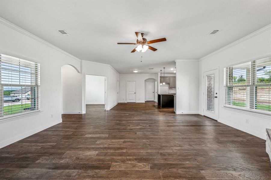
<svg viewBox="0 0 271 180">
<path fill-rule="evenodd" d="M 0 16 L 80 58 L 119 73 L 166 73 L 175 59 L 198 59 L 271 23 L 271 1 L 0 1 Z M 71 36 L 62 36 L 57 29 Z M 214 29 L 221 32 L 206 36 Z M 135 31 L 156 52 L 134 52 Z M 142 58 L 142 62 L 140 62 Z M 154 68 L 149 70 L 149 68 Z"/>
</svg>

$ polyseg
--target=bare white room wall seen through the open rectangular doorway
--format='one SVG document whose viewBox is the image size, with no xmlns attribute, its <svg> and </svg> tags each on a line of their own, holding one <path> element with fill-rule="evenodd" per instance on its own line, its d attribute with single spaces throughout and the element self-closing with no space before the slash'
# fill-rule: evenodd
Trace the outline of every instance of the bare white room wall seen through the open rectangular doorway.
<svg viewBox="0 0 271 180">
<path fill-rule="evenodd" d="M 86 75 L 86 104 L 104 104 L 105 77 Z"/>
</svg>

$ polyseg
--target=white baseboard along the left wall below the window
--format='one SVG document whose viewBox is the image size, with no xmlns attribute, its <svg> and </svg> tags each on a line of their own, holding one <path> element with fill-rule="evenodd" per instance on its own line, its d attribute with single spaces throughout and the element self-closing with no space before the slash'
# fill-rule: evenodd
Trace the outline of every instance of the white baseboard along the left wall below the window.
<svg viewBox="0 0 271 180">
<path fill-rule="evenodd" d="M 28 132 L 26 132 L 26 133 L 17 135 L 17 136 L 12 137 L 12 138 L 10 138 L 10 139 L 8 139 L 8 140 L 5 140 L 5 141 L 3 141 L 3 142 L 0 142 L 0 148 L 3 148 L 3 147 L 5 147 L 5 146 L 8 146 L 8 145 L 10 145 L 10 144 L 12 144 L 12 143 L 15 143 L 15 142 L 19 141 L 19 140 L 22 140 L 23 138 L 29 137 L 29 136 L 31 136 L 31 135 L 33 135 L 33 134 L 36 134 L 36 133 L 38 133 L 38 132 L 40 132 L 40 131 L 42 131 L 42 130 L 45 130 L 45 129 L 47 129 L 47 128 L 50 128 L 51 126 L 57 125 L 57 124 L 60 123 L 60 122 L 62 122 L 62 119 L 59 119 L 59 120 L 54 121 L 54 122 L 51 122 L 51 123 L 49 123 L 49 124 L 40 126 L 40 127 L 38 127 L 38 128 L 32 129 L 32 130 L 30 130 L 30 131 L 28 131 Z"/>
</svg>

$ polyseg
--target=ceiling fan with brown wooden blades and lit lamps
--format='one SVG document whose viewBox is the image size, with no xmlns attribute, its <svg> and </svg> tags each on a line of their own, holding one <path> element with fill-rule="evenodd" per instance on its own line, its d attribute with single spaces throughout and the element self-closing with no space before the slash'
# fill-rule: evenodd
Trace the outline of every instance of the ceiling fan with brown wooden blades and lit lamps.
<svg viewBox="0 0 271 180">
<path fill-rule="evenodd" d="M 135 34 L 137 35 L 137 43 L 118 43 L 118 44 L 133 44 L 133 45 L 137 45 L 138 46 L 136 48 L 134 48 L 131 52 L 145 52 L 147 49 L 150 49 L 152 51 L 156 51 L 157 49 L 149 46 L 148 44 L 152 44 L 152 43 L 159 43 L 159 42 L 163 42 L 163 41 L 167 41 L 166 38 L 161 38 L 161 39 L 155 39 L 155 40 L 151 40 L 151 41 L 147 41 L 146 38 L 143 38 L 144 33 L 141 32 L 135 32 Z"/>
</svg>

